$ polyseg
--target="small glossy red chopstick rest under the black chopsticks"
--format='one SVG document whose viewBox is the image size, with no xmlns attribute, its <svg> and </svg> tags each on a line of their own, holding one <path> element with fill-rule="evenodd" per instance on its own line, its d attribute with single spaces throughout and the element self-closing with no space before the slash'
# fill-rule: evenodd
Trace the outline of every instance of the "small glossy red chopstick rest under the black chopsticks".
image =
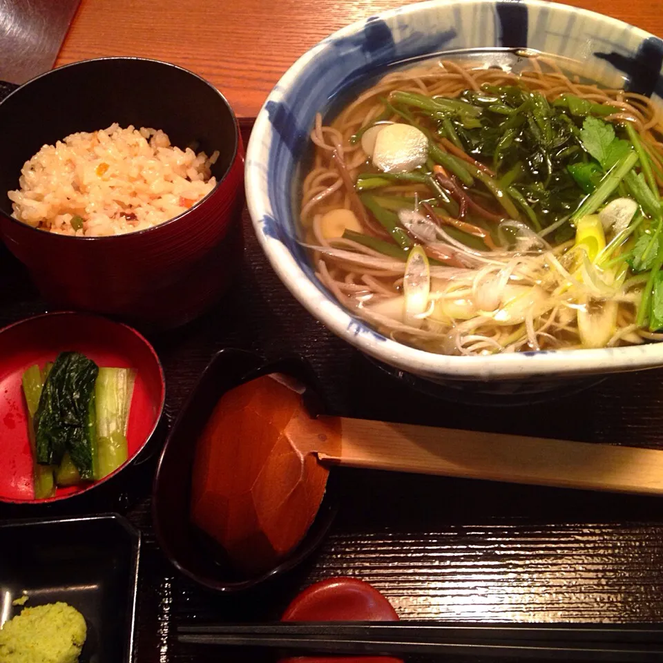
<svg viewBox="0 0 663 663">
<path fill-rule="evenodd" d="M 300 593 L 281 617 L 282 622 L 397 622 L 389 601 L 367 582 L 330 578 Z M 279 663 L 403 663 L 387 656 L 298 656 Z"/>
</svg>

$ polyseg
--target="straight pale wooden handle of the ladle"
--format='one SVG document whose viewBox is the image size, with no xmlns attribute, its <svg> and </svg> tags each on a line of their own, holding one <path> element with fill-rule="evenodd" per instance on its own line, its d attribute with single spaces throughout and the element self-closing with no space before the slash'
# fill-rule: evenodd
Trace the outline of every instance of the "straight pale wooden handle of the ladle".
<svg viewBox="0 0 663 663">
<path fill-rule="evenodd" d="M 560 488 L 663 494 L 663 451 L 365 419 L 334 421 L 340 422 L 340 451 L 338 444 L 328 449 L 318 444 L 318 459 L 324 463 Z"/>
</svg>

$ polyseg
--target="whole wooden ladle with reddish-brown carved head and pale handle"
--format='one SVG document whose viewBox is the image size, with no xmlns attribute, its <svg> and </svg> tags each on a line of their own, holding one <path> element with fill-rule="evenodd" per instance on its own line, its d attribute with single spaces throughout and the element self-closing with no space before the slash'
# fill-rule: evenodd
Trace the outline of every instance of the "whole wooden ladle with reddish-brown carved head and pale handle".
<svg viewBox="0 0 663 663">
<path fill-rule="evenodd" d="M 313 418 L 297 385 L 265 375 L 226 392 L 207 422 L 195 453 L 192 520 L 239 568 L 260 572 L 304 537 L 330 465 L 663 494 L 663 451 Z"/>
</svg>

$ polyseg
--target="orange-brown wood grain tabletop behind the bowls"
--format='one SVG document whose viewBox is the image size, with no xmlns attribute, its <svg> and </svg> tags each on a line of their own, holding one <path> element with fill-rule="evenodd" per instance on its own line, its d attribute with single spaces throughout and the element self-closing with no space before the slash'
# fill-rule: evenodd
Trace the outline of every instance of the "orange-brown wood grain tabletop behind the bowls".
<svg viewBox="0 0 663 663">
<path fill-rule="evenodd" d="M 287 68 L 330 32 L 404 0 L 81 0 L 57 59 L 137 55 L 208 79 L 240 119 L 256 117 Z M 663 37 L 660 2 L 570 0 Z"/>
</svg>

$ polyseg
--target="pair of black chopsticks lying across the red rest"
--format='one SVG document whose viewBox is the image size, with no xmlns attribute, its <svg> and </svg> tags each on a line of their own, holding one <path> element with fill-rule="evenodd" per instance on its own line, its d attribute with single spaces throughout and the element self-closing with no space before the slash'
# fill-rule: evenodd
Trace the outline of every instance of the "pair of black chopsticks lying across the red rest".
<svg viewBox="0 0 663 663">
<path fill-rule="evenodd" d="M 307 653 L 483 655 L 594 663 L 663 661 L 663 631 L 645 625 L 469 625 L 431 622 L 190 625 L 180 642 L 265 646 Z"/>
</svg>

